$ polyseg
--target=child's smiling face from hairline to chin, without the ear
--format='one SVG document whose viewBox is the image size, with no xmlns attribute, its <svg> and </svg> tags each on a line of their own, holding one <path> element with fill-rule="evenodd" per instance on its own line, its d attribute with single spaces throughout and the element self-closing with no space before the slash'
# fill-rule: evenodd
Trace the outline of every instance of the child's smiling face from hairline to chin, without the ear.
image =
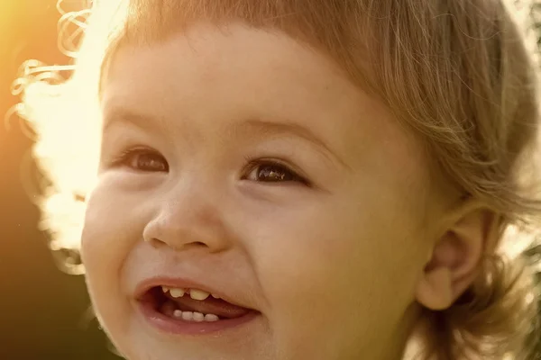
<svg viewBox="0 0 541 360">
<path fill-rule="evenodd" d="M 197 26 L 120 49 L 103 111 L 82 250 L 125 356 L 398 357 L 437 216 L 428 170 L 334 63 L 280 33 Z M 258 312 L 152 313 L 150 287 L 188 283 Z"/>
</svg>

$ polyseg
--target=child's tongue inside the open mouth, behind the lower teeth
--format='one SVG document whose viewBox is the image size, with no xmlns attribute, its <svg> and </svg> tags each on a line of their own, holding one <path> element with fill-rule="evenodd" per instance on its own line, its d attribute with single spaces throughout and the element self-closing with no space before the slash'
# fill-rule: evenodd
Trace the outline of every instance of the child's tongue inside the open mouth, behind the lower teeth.
<svg viewBox="0 0 541 360">
<path fill-rule="evenodd" d="M 232 303 L 225 302 L 221 299 L 215 299 L 211 296 L 206 300 L 194 300 L 188 296 L 180 298 L 170 298 L 173 302 L 179 305 L 181 311 L 197 311 L 202 314 L 215 314 L 220 318 L 234 319 L 246 315 L 249 310 L 236 306 Z"/>
</svg>

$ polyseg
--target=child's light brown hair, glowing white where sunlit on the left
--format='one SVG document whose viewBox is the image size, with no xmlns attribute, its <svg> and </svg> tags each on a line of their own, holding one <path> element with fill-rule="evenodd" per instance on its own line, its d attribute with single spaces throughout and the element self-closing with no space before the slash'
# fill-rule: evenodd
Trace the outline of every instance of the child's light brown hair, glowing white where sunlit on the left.
<svg viewBox="0 0 541 360">
<path fill-rule="evenodd" d="M 98 2 L 89 19 L 86 12 L 71 18 L 73 22 L 82 17 L 78 25 L 87 33 L 82 48 L 73 51 L 78 54 L 77 71 L 69 81 L 44 84 L 41 69 L 27 63 L 17 83 L 23 94 L 18 110 L 40 136 L 34 155 L 52 181 L 40 205 L 42 228 L 50 230 L 55 247 L 78 247 L 84 216 L 81 200 L 92 187 L 99 154 L 100 76 L 116 49 L 127 42 L 164 40 L 202 20 L 218 26 L 241 21 L 283 31 L 333 58 L 355 84 L 386 103 L 397 121 L 415 130 L 440 176 L 461 189 L 464 198 L 480 200 L 503 219 L 502 247 L 485 259 L 477 281 L 449 310 L 427 314 L 422 356 L 531 356 L 538 336 L 539 294 L 517 245 L 531 241 L 541 220 L 541 199 L 533 186 L 539 180 L 535 166 L 539 99 L 531 49 L 506 4 L 498 0 L 113 3 Z M 69 135 L 59 139 L 62 133 Z M 59 141 L 65 142 L 60 146 Z"/>
</svg>

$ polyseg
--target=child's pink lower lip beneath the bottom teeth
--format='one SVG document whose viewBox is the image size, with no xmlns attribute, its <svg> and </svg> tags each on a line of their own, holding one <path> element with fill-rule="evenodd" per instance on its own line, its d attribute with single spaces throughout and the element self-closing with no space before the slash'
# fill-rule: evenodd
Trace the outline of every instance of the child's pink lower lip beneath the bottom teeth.
<svg viewBox="0 0 541 360">
<path fill-rule="evenodd" d="M 169 316 L 162 314 L 160 311 L 155 310 L 150 303 L 139 302 L 139 310 L 142 316 L 147 320 L 154 328 L 157 328 L 163 332 L 179 335 L 215 335 L 218 332 L 228 329 L 235 329 L 243 326 L 255 320 L 259 316 L 259 312 L 250 311 L 246 315 L 235 318 L 225 319 L 217 321 L 185 321 L 171 319 Z"/>
</svg>

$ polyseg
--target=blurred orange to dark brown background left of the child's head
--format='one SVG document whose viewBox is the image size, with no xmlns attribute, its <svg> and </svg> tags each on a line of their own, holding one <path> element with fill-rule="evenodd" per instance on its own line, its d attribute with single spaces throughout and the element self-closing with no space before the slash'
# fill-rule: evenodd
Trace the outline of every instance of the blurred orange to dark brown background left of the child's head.
<svg viewBox="0 0 541 360">
<path fill-rule="evenodd" d="M 63 7 L 86 1 L 64 0 Z M 0 120 L 18 102 L 10 85 L 23 61 L 69 62 L 57 46 L 56 3 L 0 0 Z M 39 212 L 21 182 L 36 173 L 25 129 L 13 117 L 0 123 L 0 360 L 118 359 L 88 318 L 84 278 L 59 271 L 37 229 Z"/>
</svg>

